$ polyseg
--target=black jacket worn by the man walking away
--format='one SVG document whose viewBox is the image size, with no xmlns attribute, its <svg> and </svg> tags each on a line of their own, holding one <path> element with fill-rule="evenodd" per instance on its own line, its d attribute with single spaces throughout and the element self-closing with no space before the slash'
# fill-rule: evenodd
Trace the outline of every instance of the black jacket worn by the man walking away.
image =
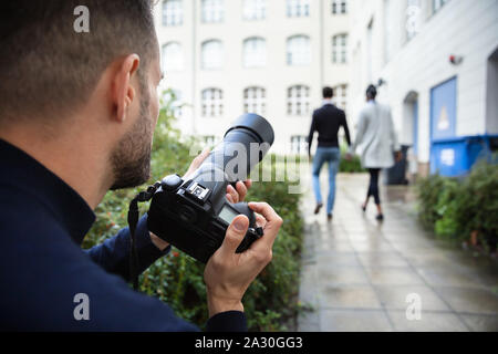
<svg viewBox="0 0 498 354">
<path fill-rule="evenodd" d="M 351 146 L 350 129 L 345 113 L 333 104 L 324 104 L 313 113 L 310 135 L 308 137 L 308 148 L 311 153 L 314 133 L 319 133 L 319 147 L 339 147 L 338 134 L 341 126 L 344 128 L 347 145 Z"/>
</svg>

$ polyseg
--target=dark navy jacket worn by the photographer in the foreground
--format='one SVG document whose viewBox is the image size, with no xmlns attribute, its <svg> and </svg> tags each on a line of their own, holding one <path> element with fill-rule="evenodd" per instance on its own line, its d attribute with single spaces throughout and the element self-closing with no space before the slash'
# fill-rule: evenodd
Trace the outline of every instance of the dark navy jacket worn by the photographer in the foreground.
<svg viewBox="0 0 498 354">
<path fill-rule="evenodd" d="M 133 291 L 129 231 L 87 251 L 80 247 L 95 220 L 76 191 L 37 160 L 0 139 L 0 330 L 198 331 L 162 301 Z M 141 272 L 165 256 L 137 227 Z M 89 320 L 74 312 L 89 299 Z M 211 317 L 211 331 L 243 331 L 242 312 Z"/>
</svg>

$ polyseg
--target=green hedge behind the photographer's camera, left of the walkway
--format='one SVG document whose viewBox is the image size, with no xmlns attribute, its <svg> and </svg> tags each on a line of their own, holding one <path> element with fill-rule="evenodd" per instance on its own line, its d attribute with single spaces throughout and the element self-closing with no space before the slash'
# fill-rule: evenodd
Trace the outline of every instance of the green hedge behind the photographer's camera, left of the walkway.
<svg viewBox="0 0 498 354">
<path fill-rule="evenodd" d="M 164 104 L 160 112 L 152 159 L 151 183 L 173 173 L 187 170 L 193 157 L 188 147 L 195 142 L 180 143 L 179 133 L 172 128 L 173 108 Z M 273 166 L 274 168 L 274 166 Z M 96 209 L 97 221 L 85 238 L 90 248 L 126 227 L 128 202 L 142 188 L 108 192 Z M 284 223 L 273 247 L 273 260 L 248 289 L 243 299 L 251 331 L 284 331 L 295 319 L 300 306 L 299 263 L 302 220 L 298 209 L 299 195 L 288 194 L 287 183 L 255 183 L 248 200 L 270 202 Z M 146 206 L 142 207 L 142 214 Z M 204 264 L 173 249 L 141 277 L 141 291 L 169 304 L 178 316 L 200 327 L 208 320 Z"/>
</svg>

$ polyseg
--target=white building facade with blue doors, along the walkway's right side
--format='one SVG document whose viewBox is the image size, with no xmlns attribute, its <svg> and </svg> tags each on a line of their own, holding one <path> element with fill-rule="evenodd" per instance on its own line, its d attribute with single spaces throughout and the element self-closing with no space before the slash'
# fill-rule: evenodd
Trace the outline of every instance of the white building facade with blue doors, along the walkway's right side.
<svg viewBox="0 0 498 354">
<path fill-rule="evenodd" d="M 381 81 L 412 173 L 428 173 L 438 138 L 498 134 L 497 0 L 354 0 L 351 11 L 353 122 Z"/>
</svg>

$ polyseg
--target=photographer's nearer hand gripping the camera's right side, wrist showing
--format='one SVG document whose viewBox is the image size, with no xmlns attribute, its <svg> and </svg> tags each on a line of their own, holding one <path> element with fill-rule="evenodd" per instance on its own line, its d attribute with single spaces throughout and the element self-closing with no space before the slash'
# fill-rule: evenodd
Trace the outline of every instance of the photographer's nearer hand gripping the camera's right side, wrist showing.
<svg viewBox="0 0 498 354">
<path fill-rule="evenodd" d="M 282 218 L 266 202 L 250 202 L 264 236 L 243 253 L 236 253 L 246 236 L 249 220 L 238 216 L 229 226 L 224 243 L 209 259 L 204 271 L 209 316 L 226 311 L 243 311 L 242 296 L 250 283 L 271 261 L 272 247 Z"/>
</svg>

